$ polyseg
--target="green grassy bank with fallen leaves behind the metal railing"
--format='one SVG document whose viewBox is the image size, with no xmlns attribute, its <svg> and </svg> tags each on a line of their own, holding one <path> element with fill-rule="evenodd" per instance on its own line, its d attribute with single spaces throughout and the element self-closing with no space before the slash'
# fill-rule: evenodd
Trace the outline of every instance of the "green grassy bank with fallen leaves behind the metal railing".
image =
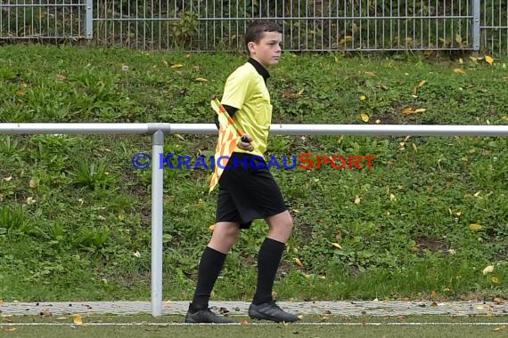
<svg viewBox="0 0 508 338">
<path fill-rule="evenodd" d="M 0 122 L 211 123 L 210 97 L 244 60 L 4 46 Z M 285 53 L 269 80 L 273 122 L 506 125 L 507 60 L 463 60 Z M 164 149 L 195 159 L 215 142 L 171 135 Z M 151 149 L 148 136 L 0 135 L 0 299 L 149 299 L 152 173 L 131 157 Z M 376 156 L 370 170 L 273 170 L 295 222 L 277 297 L 508 296 L 507 149 L 489 137 L 272 137 L 278 158 Z M 192 297 L 214 221 L 209 174 L 164 171 L 164 298 Z M 262 221 L 242 233 L 215 300 L 250 300 L 265 233 Z"/>
</svg>

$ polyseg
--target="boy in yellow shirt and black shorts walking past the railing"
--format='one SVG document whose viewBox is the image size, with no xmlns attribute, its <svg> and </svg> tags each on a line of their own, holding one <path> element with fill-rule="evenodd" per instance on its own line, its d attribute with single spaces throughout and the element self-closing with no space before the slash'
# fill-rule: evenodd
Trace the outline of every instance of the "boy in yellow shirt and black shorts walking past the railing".
<svg viewBox="0 0 508 338">
<path fill-rule="evenodd" d="M 249 307 L 250 318 L 294 322 L 295 315 L 280 309 L 272 298 L 275 274 L 285 243 L 293 227 L 281 191 L 262 160 L 272 121 L 266 68 L 281 57 L 282 30 L 273 21 L 255 21 L 245 34 L 249 60 L 237 68 L 225 83 L 222 104 L 245 133 L 219 180 L 216 226 L 205 248 L 198 270 L 193 302 L 186 323 L 232 323 L 209 310 L 209 297 L 222 270 L 226 254 L 255 219 L 269 226 L 258 254 L 258 284 Z M 252 159 L 257 157 L 258 159 Z M 251 165 L 256 162 L 255 168 Z M 259 169 L 260 167 L 263 167 Z"/>
</svg>

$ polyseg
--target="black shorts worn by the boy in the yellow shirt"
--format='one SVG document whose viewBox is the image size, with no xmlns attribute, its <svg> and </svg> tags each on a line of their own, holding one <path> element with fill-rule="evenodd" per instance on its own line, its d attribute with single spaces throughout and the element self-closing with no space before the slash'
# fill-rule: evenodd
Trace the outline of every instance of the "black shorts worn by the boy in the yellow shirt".
<svg viewBox="0 0 508 338">
<path fill-rule="evenodd" d="M 249 229 L 252 221 L 288 210 L 281 189 L 261 157 L 233 153 L 218 181 L 216 221 L 234 221 Z M 235 163 L 234 163 L 235 158 Z"/>
</svg>

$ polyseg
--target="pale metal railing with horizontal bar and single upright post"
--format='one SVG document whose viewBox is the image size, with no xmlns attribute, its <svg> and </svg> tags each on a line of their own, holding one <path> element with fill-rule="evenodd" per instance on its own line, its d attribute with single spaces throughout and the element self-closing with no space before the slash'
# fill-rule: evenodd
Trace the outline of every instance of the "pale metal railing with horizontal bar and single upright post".
<svg viewBox="0 0 508 338">
<path fill-rule="evenodd" d="M 147 134 L 152 135 L 152 316 L 162 314 L 164 135 L 214 134 L 213 124 L 0 123 L 0 134 Z M 508 125 L 272 125 L 274 135 L 508 136 Z"/>
</svg>

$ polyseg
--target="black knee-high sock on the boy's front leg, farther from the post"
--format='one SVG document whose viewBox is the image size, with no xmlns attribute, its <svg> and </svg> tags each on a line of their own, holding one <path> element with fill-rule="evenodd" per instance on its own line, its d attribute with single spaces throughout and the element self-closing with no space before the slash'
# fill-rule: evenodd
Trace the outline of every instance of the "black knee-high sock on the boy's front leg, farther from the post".
<svg viewBox="0 0 508 338">
<path fill-rule="evenodd" d="M 258 286 L 254 294 L 254 305 L 263 302 L 272 302 L 272 289 L 274 287 L 275 275 L 285 248 L 285 243 L 272 238 L 265 238 L 258 254 Z"/>
</svg>

